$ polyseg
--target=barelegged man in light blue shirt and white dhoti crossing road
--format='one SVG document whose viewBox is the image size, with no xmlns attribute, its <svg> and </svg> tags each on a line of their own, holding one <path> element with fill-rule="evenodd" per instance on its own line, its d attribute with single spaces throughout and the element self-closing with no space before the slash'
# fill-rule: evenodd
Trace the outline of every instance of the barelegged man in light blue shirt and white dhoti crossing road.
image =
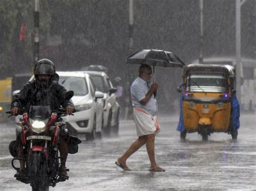
<svg viewBox="0 0 256 191">
<path fill-rule="evenodd" d="M 138 139 L 135 140 L 127 151 L 117 159 L 116 165 L 125 171 L 130 171 L 126 160 L 140 147 L 146 144 L 147 154 L 150 159 L 150 169 L 153 172 L 164 172 L 159 167 L 154 157 L 154 138 L 159 131 L 157 114 L 157 83 L 151 83 L 152 69 L 149 65 L 143 64 L 139 67 L 139 76 L 131 86 L 131 100 L 133 106 L 133 117 L 136 124 Z"/>
</svg>

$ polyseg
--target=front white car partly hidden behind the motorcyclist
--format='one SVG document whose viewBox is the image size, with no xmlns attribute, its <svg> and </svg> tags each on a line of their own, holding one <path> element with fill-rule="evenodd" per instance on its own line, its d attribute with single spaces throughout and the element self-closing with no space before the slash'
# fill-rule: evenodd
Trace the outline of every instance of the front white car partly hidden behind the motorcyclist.
<svg viewBox="0 0 256 191">
<path fill-rule="evenodd" d="M 76 112 L 74 116 L 64 116 L 63 121 L 71 135 L 85 134 L 86 140 L 102 137 L 103 127 L 103 100 L 104 94 L 96 91 L 89 74 L 78 72 L 57 72 L 59 83 L 66 90 L 74 91 L 73 101 Z M 30 81 L 34 79 L 31 77 Z M 22 116 L 16 117 L 16 122 L 21 121 Z M 17 125 L 16 125 L 17 126 Z M 20 127 L 17 126 L 18 131 Z"/>
</svg>

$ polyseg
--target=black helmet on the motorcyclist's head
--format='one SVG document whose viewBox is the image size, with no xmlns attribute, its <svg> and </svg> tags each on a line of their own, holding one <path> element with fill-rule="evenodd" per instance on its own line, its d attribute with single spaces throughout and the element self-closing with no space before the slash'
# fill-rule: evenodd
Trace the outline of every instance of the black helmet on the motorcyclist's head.
<svg viewBox="0 0 256 191">
<path fill-rule="evenodd" d="M 41 59 L 34 68 L 34 74 L 36 75 L 55 75 L 55 65 L 51 60 Z"/>
</svg>

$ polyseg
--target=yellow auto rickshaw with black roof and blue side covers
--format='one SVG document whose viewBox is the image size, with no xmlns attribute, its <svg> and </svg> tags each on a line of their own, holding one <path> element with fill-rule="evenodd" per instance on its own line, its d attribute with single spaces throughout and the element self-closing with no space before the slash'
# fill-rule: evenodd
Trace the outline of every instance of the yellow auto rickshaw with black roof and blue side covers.
<svg viewBox="0 0 256 191">
<path fill-rule="evenodd" d="M 240 109 L 235 97 L 235 69 L 230 65 L 191 64 L 184 68 L 181 93 L 180 138 L 198 132 L 203 140 L 213 132 L 237 139 Z"/>
</svg>

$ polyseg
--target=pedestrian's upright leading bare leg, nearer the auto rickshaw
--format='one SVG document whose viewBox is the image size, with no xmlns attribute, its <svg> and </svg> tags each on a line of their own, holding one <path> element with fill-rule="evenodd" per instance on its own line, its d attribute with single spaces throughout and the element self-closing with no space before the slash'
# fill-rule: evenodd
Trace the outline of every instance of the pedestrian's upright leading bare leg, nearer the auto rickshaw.
<svg viewBox="0 0 256 191">
<path fill-rule="evenodd" d="M 149 155 L 150 159 L 150 170 L 152 171 L 165 171 L 163 168 L 157 166 L 156 159 L 154 158 L 154 134 L 146 135 L 146 148 L 147 154 Z"/>
</svg>

